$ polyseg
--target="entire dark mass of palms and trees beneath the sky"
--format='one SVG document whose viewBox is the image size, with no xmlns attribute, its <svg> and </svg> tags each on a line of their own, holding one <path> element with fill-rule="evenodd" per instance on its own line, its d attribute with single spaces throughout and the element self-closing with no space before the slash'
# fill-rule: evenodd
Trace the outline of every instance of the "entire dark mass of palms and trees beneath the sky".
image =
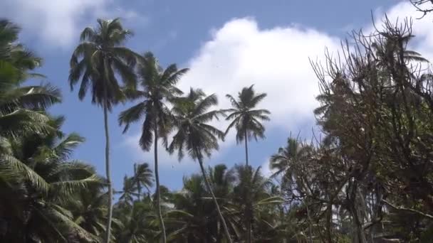
<svg viewBox="0 0 433 243">
<path fill-rule="evenodd" d="M 34 72 L 41 58 L 19 31 L 0 21 L 0 242 L 432 242 L 433 74 L 407 48 L 410 21 L 354 32 L 339 59 L 311 63 L 321 134 L 276 148 L 270 178 L 248 157 L 248 142 L 265 139 L 266 94 L 244 87 L 216 109 L 216 95 L 177 88 L 188 69 L 127 48 L 131 31 L 119 19 L 85 28 L 71 57 L 71 88 L 79 99 L 89 93 L 105 118 L 106 174 L 97 175 L 71 159 L 85 139 L 48 112 L 59 90 L 26 86 L 43 77 Z M 108 115 L 120 102 L 132 103 L 120 126 L 140 123 L 140 146 L 155 160 L 154 171 L 135 164 L 115 190 Z M 226 131 L 212 125 L 219 118 Z M 206 166 L 231 129 L 246 163 Z M 179 191 L 160 185 L 158 149 L 189 156 L 201 173 Z"/>
</svg>

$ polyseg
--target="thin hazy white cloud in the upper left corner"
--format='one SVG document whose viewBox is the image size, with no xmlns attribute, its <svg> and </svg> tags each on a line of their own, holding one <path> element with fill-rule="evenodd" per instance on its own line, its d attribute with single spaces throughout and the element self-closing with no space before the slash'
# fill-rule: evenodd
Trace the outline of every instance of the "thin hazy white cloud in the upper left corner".
<svg viewBox="0 0 433 243">
<path fill-rule="evenodd" d="M 31 38 L 64 48 L 78 40 L 82 28 L 94 25 L 95 18 L 142 18 L 113 4 L 113 0 L 3 0 L 0 14 L 31 33 Z"/>
</svg>

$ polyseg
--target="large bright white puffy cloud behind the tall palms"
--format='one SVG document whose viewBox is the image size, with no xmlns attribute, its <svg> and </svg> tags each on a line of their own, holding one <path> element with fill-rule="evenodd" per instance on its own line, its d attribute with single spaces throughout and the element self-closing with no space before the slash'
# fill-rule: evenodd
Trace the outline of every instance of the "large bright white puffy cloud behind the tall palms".
<svg viewBox="0 0 433 243">
<path fill-rule="evenodd" d="M 236 18 L 214 30 L 189 61 L 191 70 L 180 87 L 215 92 L 220 107 L 229 107 L 226 94 L 255 85 L 268 97 L 260 104 L 272 112 L 271 125 L 295 129 L 313 121 L 318 81 L 308 58 L 322 57 L 325 47 L 337 50 L 338 38 L 313 28 L 278 26 L 261 29 L 253 18 Z"/>
</svg>

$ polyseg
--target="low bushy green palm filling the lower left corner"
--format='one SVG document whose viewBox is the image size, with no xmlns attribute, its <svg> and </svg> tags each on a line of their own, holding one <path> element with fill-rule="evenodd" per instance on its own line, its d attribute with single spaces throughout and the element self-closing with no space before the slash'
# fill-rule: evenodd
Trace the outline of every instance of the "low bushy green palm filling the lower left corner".
<svg viewBox="0 0 433 243">
<path fill-rule="evenodd" d="M 50 125 L 58 128 L 62 121 L 54 119 Z M 75 193 L 102 183 L 93 168 L 68 160 L 82 141 L 58 130 L 3 141 L 9 151 L 0 157 L 0 215 L 8 225 L 2 242 L 96 240 L 67 208 Z"/>
</svg>

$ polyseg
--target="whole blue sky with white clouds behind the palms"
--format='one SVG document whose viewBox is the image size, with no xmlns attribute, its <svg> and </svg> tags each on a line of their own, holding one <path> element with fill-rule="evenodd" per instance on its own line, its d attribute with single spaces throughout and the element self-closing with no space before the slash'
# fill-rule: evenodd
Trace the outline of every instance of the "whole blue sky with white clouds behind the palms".
<svg viewBox="0 0 433 243">
<path fill-rule="evenodd" d="M 68 61 L 78 34 L 85 26 L 95 26 L 96 18 L 122 17 L 125 27 L 135 32 L 128 47 L 140 53 L 151 50 L 162 65 L 177 63 L 191 68 L 180 87 L 216 92 L 221 107 L 228 105 L 226 93 L 236 95 L 246 85 L 255 84 L 257 90 L 267 92 L 263 107 L 271 110 L 272 121 L 266 124 L 266 140 L 251 143 L 250 158 L 252 165 L 264 166 L 268 173 L 268 157 L 285 144 L 291 131 L 294 136 L 301 132 L 303 138 L 311 138 L 318 88 L 308 58 L 323 58 L 325 46 L 338 50 L 340 39 L 353 28 L 370 28 L 371 11 L 379 18 L 385 11 L 390 16 L 416 14 L 407 2 L 397 0 L 0 2 L 1 16 L 19 23 L 23 28 L 21 40 L 44 58 L 39 71 L 63 92 L 63 104 L 51 112 L 66 116 L 64 130 L 76 131 L 87 139 L 75 158 L 92 163 L 100 174 L 105 173 L 103 113 L 89 99 L 78 101 L 67 82 Z M 416 23 L 417 30 L 425 32 L 418 46 L 427 54 L 433 53 L 429 24 L 427 19 Z M 118 189 L 133 163 L 153 164 L 152 153 L 143 153 L 137 146 L 139 125 L 132 126 L 127 134 L 118 126 L 117 116 L 128 105 L 116 107 L 110 115 L 113 180 Z M 198 171 L 198 165 L 187 158 L 179 163 L 164 151 L 160 157 L 161 183 L 169 188 L 179 189 L 184 175 Z M 231 136 L 206 163 L 233 165 L 243 161 L 243 146 L 236 146 Z"/>
</svg>

